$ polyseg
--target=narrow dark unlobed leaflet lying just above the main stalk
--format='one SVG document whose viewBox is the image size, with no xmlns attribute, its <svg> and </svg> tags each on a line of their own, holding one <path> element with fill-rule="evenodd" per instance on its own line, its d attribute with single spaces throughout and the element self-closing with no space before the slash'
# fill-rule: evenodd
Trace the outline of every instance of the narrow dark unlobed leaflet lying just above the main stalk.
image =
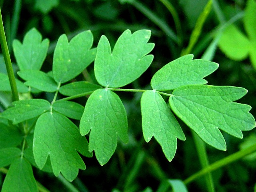
<svg viewBox="0 0 256 192">
<path fill-rule="evenodd" d="M 90 94 L 100 88 L 102 87 L 87 81 L 77 81 L 61 86 L 59 91 L 63 95 L 72 96 L 77 94 Z"/>
</svg>

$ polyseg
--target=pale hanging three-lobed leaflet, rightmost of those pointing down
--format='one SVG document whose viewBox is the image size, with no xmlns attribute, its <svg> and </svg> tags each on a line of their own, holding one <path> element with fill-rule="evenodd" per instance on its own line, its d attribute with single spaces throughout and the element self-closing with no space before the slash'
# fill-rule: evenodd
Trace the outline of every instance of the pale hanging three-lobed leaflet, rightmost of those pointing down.
<svg viewBox="0 0 256 192">
<path fill-rule="evenodd" d="M 180 124 L 166 102 L 154 90 L 147 90 L 141 97 L 142 130 L 146 142 L 154 136 L 171 161 L 177 149 L 177 138 L 185 140 Z"/>
</svg>

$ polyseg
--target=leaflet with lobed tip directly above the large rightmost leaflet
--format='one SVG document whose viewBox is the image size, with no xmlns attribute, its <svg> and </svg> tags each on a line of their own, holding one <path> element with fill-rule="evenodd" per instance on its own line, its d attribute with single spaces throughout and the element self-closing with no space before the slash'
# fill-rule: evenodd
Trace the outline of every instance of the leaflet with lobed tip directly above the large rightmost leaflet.
<svg viewBox="0 0 256 192">
<path fill-rule="evenodd" d="M 151 86 L 158 91 L 173 90 L 183 85 L 206 84 L 203 78 L 214 72 L 218 64 L 193 59 L 193 55 L 182 56 L 158 70 L 151 80 Z"/>
</svg>

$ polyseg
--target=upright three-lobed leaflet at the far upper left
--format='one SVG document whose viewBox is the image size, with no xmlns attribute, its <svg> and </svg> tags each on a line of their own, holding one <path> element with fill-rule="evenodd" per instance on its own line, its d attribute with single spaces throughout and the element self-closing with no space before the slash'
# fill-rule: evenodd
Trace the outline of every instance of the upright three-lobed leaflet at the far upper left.
<svg viewBox="0 0 256 192">
<path fill-rule="evenodd" d="M 49 40 L 42 41 L 42 35 L 36 28 L 32 28 L 24 36 L 23 44 L 13 41 L 13 52 L 20 70 L 40 70 L 46 58 Z"/>
</svg>

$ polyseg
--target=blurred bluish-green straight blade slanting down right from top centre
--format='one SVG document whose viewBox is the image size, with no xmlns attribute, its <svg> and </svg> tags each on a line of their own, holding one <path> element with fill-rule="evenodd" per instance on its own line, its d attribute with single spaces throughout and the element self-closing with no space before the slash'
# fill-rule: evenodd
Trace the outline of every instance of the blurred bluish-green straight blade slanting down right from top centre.
<svg viewBox="0 0 256 192">
<path fill-rule="evenodd" d="M 156 16 L 154 12 L 146 8 L 145 5 L 141 4 L 140 2 L 133 0 L 129 1 L 132 6 L 142 12 L 146 17 L 148 17 L 154 24 L 156 24 L 163 32 L 165 32 L 174 42 L 180 43 L 180 39 L 177 35 L 173 32 L 171 28 L 169 28 L 168 24 L 166 24 L 161 18 Z"/>
</svg>

